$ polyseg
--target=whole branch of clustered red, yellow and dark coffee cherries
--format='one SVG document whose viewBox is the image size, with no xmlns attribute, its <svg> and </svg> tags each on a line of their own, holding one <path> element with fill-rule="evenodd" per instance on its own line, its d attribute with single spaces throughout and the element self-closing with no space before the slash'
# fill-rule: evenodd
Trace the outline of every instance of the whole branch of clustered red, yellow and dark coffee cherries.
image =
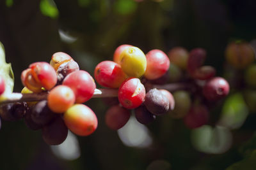
<svg viewBox="0 0 256 170">
<path fill-rule="evenodd" d="M 136 46 L 120 45 L 113 61 L 97 64 L 93 79 L 70 55 L 57 52 L 50 63 L 35 62 L 22 72 L 24 89 L 1 97 L 0 117 L 24 118 L 30 129 L 42 129 L 47 144 L 59 145 L 68 129 L 79 136 L 97 129 L 97 116 L 83 103 L 92 97 L 115 97 L 118 102 L 105 115 L 110 129 L 123 127 L 131 110 L 141 124 L 170 115 L 183 118 L 191 129 L 200 127 L 209 120 L 205 101 L 216 103 L 229 92 L 228 82 L 215 76 L 214 67 L 204 66 L 206 56 L 203 48 L 188 52 L 175 47 L 166 55 L 158 49 L 145 54 Z M 104 88 L 96 89 L 94 80 Z M 0 95 L 4 87 L 0 76 Z"/>
</svg>

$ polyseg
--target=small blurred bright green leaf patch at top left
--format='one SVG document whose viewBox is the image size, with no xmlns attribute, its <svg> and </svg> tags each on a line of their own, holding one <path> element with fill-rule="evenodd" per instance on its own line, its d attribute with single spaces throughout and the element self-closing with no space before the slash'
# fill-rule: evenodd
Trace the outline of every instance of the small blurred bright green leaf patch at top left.
<svg viewBox="0 0 256 170">
<path fill-rule="evenodd" d="M 51 18 L 57 18 L 59 15 L 59 11 L 56 8 L 56 4 L 52 0 L 42 0 L 40 2 L 40 10 L 43 15 Z"/>
</svg>

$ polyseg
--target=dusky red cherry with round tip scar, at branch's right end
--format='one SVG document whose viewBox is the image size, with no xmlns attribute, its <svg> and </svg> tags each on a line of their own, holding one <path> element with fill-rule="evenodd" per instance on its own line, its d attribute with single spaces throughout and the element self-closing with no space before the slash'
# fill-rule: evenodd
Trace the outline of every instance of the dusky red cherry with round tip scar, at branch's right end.
<svg viewBox="0 0 256 170">
<path fill-rule="evenodd" d="M 214 77 L 207 81 L 203 88 L 203 94 L 209 101 L 217 101 L 227 96 L 229 84 L 227 80 L 221 77 Z"/>
</svg>

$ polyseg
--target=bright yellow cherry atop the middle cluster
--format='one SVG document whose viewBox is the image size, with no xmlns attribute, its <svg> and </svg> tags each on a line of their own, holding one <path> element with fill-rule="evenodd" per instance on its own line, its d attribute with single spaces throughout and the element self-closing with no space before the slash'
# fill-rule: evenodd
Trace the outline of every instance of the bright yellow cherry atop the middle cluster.
<svg viewBox="0 0 256 170">
<path fill-rule="evenodd" d="M 147 68 L 145 54 L 136 46 L 126 48 L 120 55 L 121 67 L 131 77 L 141 77 Z"/>
</svg>

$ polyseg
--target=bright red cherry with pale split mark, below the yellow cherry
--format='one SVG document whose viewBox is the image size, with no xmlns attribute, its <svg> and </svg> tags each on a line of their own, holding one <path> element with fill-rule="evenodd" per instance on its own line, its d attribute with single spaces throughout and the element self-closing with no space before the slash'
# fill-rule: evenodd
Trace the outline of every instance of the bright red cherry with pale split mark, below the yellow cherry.
<svg viewBox="0 0 256 170">
<path fill-rule="evenodd" d="M 138 78 L 128 78 L 118 89 L 118 101 L 127 109 L 134 109 L 145 99 L 145 87 Z"/>
</svg>

